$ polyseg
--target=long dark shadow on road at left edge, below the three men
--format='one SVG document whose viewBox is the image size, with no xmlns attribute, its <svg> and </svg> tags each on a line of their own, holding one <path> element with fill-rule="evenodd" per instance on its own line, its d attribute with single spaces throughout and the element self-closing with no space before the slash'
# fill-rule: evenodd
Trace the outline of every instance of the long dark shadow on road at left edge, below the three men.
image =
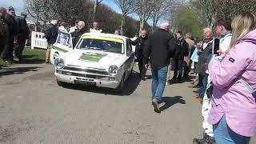
<svg viewBox="0 0 256 144">
<path fill-rule="evenodd" d="M 0 78 L 3 75 L 11 75 L 11 74 L 24 74 L 28 71 L 38 71 L 38 66 L 31 66 L 31 67 L 4 67 L 0 70 Z"/>
</svg>

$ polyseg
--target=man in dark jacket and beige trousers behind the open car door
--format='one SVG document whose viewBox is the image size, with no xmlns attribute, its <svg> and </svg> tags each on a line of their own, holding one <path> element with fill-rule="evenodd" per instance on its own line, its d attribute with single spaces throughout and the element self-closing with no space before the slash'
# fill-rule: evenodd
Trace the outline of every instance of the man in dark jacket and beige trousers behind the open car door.
<svg viewBox="0 0 256 144">
<path fill-rule="evenodd" d="M 58 37 L 57 23 L 58 23 L 57 20 L 52 20 L 50 22 L 50 26 L 48 26 L 48 28 L 46 29 L 46 39 L 47 39 L 46 63 L 50 63 L 50 50 Z"/>
</svg>

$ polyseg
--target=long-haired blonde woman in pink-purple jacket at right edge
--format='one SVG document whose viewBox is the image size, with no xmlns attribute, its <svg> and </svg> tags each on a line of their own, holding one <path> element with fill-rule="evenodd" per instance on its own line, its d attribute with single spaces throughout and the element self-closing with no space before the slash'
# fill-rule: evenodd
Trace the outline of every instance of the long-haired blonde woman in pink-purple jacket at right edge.
<svg viewBox="0 0 256 144">
<path fill-rule="evenodd" d="M 236 16 L 230 49 L 208 66 L 214 84 L 208 121 L 218 144 L 246 144 L 256 135 L 256 102 L 251 94 L 256 90 L 255 28 L 254 14 Z"/>
</svg>

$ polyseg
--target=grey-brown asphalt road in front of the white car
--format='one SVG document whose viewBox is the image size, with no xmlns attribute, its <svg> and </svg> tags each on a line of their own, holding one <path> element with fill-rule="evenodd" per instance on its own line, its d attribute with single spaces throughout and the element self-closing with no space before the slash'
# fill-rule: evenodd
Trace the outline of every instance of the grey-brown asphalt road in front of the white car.
<svg viewBox="0 0 256 144">
<path fill-rule="evenodd" d="M 150 82 L 140 82 L 134 71 L 120 96 L 58 86 L 51 65 L 0 70 L 0 143 L 190 144 L 202 137 L 201 104 L 191 99 L 189 83 L 166 86 L 166 103 L 156 114 Z"/>
</svg>

